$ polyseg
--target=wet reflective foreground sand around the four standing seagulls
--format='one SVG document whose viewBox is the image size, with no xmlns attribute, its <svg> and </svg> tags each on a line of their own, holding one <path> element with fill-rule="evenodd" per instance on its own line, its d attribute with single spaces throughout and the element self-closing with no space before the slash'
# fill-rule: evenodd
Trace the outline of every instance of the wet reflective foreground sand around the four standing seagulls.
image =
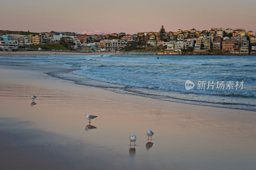
<svg viewBox="0 0 256 170">
<path fill-rule="evenodd" d="M 117 94 L 4 62 L 0 108 L 0 169 L 256 166 L 251 111 Z M 91 125 L 87 113 L 98 116 Z M 147 129 L 155 133 L 151 143 Z"/>
</svg>

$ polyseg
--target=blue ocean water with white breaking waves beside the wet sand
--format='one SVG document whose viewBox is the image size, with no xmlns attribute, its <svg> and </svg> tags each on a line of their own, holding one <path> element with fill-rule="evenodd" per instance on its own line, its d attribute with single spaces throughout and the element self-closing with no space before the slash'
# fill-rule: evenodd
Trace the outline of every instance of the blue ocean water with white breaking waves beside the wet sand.
<svg viewBox="0 0 256 170">
<path fill-rule="evenodd" d="M 250 55 L 8 55 L 0 62 L 116 93 L 256 111 L 256 57 Z"/>
</svg>

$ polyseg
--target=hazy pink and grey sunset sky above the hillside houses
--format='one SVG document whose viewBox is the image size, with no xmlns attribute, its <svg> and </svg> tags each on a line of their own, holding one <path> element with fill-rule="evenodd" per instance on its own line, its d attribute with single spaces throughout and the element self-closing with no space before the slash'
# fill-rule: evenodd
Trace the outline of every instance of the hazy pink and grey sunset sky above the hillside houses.
<svg viewBox="0 0 256 170">
<path fill-rule="evenodd" d="M 0 0 L 0 29 L 87 34 L 245 28 L 255 34 L 255 0 Z"/>
</svg>

